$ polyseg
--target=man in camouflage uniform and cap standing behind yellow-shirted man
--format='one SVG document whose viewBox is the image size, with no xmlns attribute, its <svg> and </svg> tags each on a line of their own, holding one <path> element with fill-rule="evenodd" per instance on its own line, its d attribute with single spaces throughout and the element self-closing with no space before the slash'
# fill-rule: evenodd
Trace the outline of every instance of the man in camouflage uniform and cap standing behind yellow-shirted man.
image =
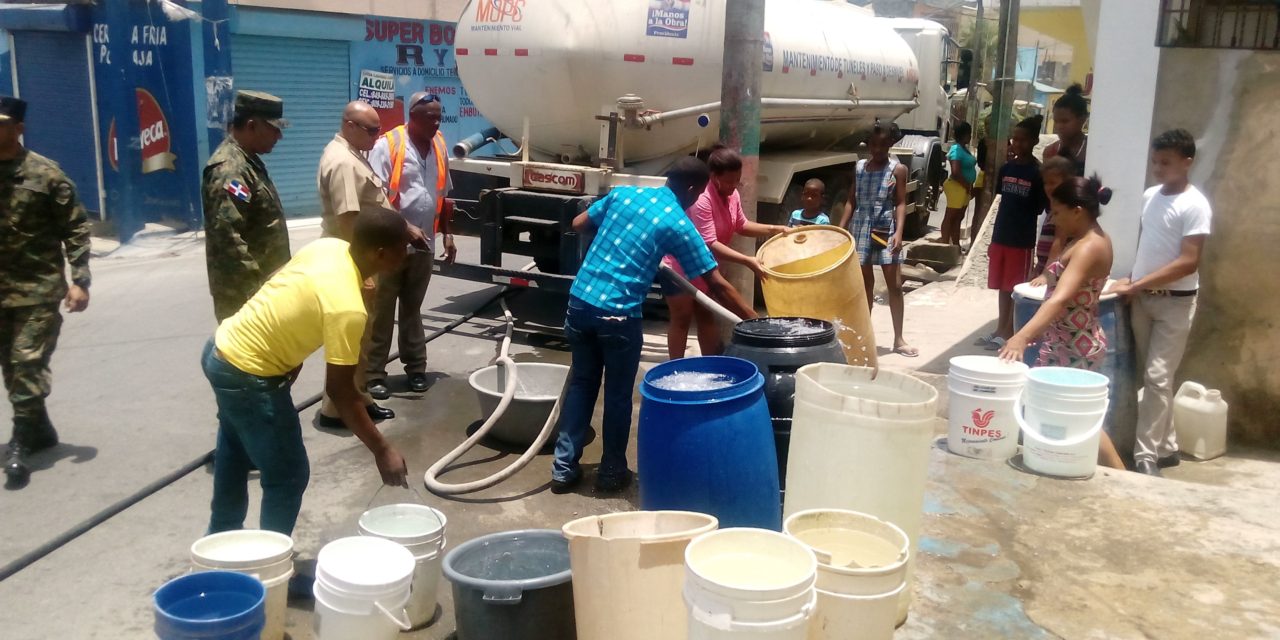
<svg viewBox="0 0 1280 640">
<path fill-rule="evenodd" d="M 205 260 L 219 323 L 289 261 L 280 196 L 260 157 L 275 148 L 285 127 L 283 100 L 238 91 L 230 132 L 205 165 Z"/>
</svg>

